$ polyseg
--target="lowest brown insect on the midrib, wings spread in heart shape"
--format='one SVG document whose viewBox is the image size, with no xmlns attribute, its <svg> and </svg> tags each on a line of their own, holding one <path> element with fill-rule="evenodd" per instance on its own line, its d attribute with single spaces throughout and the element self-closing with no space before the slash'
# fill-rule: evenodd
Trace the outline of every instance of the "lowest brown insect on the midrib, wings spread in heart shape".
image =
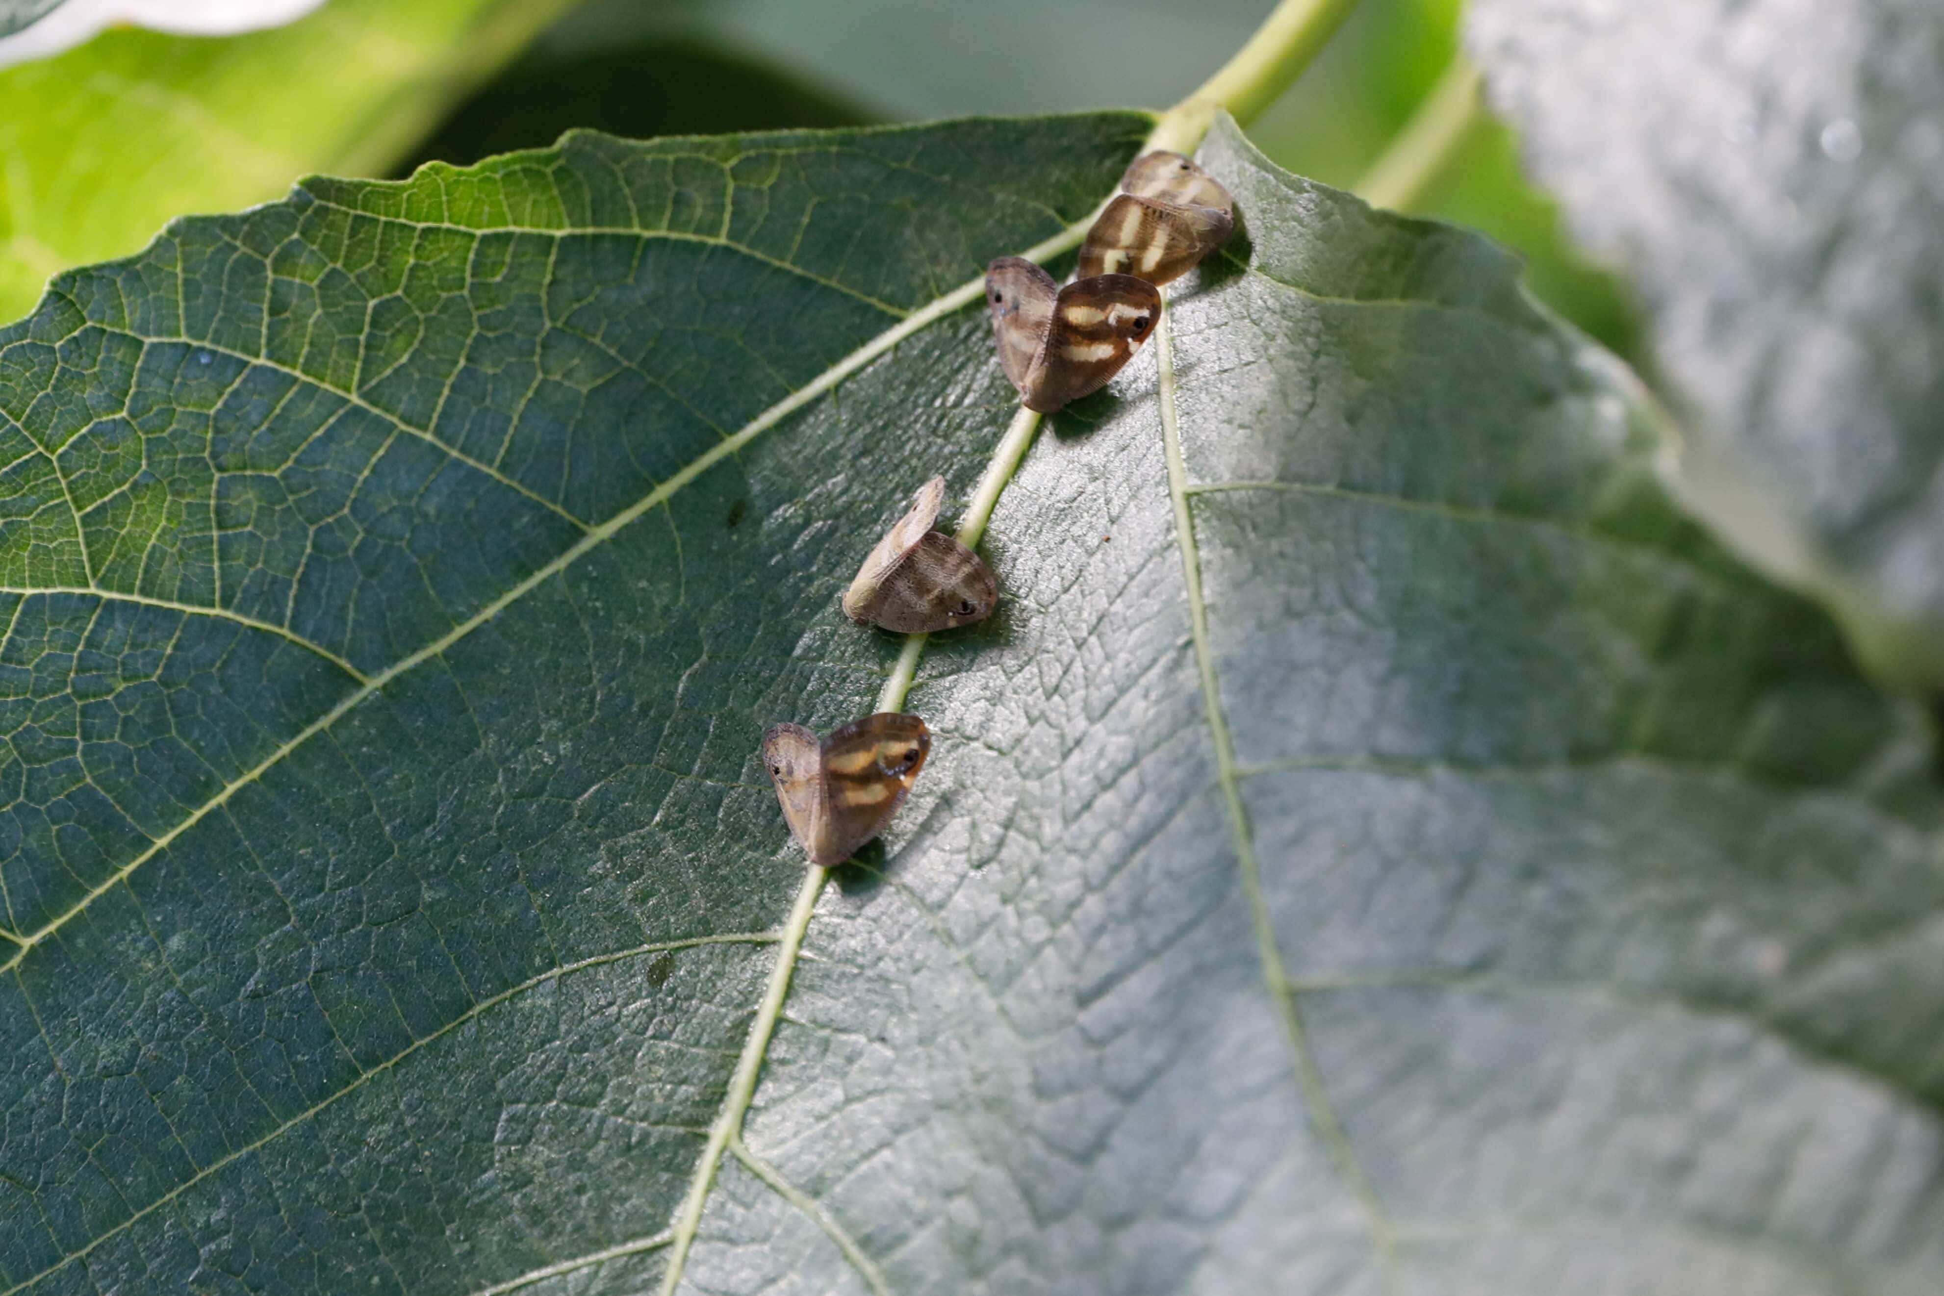
<svg viewBox="0 0 1944 1296">
<path fill-rule="evenodd" d="M 904 804 L 931 752 L 931 731 L 916 715 L 879 711 L 822 742 L 803 725 L 772 725 L 762 764 L 797 845 L 813 865 L 842 865 Z"/>
</svg>

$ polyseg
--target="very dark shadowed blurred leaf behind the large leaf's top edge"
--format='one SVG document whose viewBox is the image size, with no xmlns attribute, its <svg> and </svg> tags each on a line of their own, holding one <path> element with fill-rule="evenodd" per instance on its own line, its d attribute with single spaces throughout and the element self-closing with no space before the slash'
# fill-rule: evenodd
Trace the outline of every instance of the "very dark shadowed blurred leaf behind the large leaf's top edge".
<svg viewBox="0 0 1944 1296">
<path fill-rule="evenodd" d="M 397 173 L 540 148 L 572 128 L 649 138 L 865 120 L 863 109 L 832 93 L 694 39 L 542 47 L 482 85 Z"/>
</svg>

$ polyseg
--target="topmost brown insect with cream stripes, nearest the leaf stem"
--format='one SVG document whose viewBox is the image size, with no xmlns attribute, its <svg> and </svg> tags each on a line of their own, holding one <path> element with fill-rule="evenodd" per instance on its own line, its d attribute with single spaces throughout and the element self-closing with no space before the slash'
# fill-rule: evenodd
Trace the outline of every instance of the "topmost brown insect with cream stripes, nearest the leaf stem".
<svg viewBox="0 0 1944 1296">
<path fill-rule="evenodd" d="M 1166 284 L 1221 247 L 1234 231 L 1234 200 L 1215 177 L 1180 153 L 1143 153 L 1081 247 L 1081 278 L 1133 274 Z"/>
</svg>

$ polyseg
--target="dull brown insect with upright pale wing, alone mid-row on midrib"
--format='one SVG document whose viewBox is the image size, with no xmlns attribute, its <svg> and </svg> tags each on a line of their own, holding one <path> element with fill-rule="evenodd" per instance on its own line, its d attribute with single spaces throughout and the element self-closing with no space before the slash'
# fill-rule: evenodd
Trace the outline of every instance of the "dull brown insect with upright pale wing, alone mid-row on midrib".
<svg viewBox="0 0 1944 1296">
<path fill-rule="evenodd" d="M 844 614 L 863 626 L 898 633 L 929 633 L 970 626 L 991 616 L 999 583 L 978 554 L 933 530 L 945 478 L 918 488 L 912 511 L 877 542 L 844 591 Z"/>
</svg>

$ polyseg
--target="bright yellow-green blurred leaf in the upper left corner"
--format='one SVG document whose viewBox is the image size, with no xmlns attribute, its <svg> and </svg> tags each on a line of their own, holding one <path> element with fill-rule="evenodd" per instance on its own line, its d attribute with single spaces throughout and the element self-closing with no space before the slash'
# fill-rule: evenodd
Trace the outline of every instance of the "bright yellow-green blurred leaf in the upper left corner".
<svg viewBox="0 0 1944 1296">
<path fill-rule="evenodd" d="M 336 0 L 226 41 L 109 31 L 0 72 L 0 319 L 167 220 L 383 175 L 566 0 Z"/>
</svg>

